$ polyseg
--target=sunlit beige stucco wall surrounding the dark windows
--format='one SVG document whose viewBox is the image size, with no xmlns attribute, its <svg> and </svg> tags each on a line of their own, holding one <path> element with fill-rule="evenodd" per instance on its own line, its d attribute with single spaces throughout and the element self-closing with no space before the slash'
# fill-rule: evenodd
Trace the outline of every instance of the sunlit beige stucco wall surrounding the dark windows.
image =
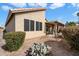
<svg viewBox="0 0 79 59">
<path fill-rule="evenodd" d="M 45 33 L 45 11 L 18 13 L 15 15 L 15 31 L 24 31 L 24 19 L 42 22 L 42 31 L 25 31 L 26 39 L 44 36 Z"/>
</svg>

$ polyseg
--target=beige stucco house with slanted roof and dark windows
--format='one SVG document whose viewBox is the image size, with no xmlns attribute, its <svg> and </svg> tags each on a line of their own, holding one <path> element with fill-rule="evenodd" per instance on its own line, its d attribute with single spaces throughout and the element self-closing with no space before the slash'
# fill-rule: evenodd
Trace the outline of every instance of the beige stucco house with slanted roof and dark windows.
<svg viewBox="0 0 79 59">
<path fill-rule="evenodd" d="M 51 25 L 52 28 L 56 27 L 54 23 L 50 23 L 45 19 L 45 10 L 45 8 L 18 8 L 9 10 L 5 24 L 6 31 L 26 32 L 26 39 L 45 36 L 47 29 L 50 28 L 48 25 Z"/>
</svg>

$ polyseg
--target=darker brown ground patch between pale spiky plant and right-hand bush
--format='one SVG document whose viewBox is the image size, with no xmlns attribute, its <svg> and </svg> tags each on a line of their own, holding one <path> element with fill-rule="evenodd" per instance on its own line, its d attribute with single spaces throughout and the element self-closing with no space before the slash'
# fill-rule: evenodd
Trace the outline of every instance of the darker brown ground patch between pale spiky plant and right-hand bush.
<svg viewBox="0 0 79 59">
<path fill-rule="evenodd" d="M 69 47 L 66 45 L 62 45 L 62 42 L 57 41 L 47 41 L 47 45 L 52 47 L 53 56 L 72 56 L 72 52 L 69 50 Z"/>
</svg>

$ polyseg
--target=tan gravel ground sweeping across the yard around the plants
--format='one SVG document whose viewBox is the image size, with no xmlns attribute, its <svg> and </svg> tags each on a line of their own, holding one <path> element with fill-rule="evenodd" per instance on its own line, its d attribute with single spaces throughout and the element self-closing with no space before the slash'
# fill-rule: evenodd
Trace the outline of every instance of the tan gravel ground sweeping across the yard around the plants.
<svg viewBox="0 0 79 59">
<path fill-rule="evenodd" d="M 45 43 L 49 45 L 52 49 L 52 55 L 54 56 L 72 56 L 76 55 L 74 54 L 70 49 L 69 46 L 67 45 L 66 42 L 64 42 L 62 39 L 56 39 L 52 36 L 45 36 L 45 37 L 40 37 L 40 38 L 35 38 L 35 39 L 27 39 L 23 46 L 15 52 L 7 52 L 3 50 L 1 47 L 5 44 L 3 39 L 0 39 L 0 55 L 3 56 L 25 56 L 26 50 L 32 46 L 33 43 Z M 79 54 L 77 54 L 79 55 Z"/>
</svg>

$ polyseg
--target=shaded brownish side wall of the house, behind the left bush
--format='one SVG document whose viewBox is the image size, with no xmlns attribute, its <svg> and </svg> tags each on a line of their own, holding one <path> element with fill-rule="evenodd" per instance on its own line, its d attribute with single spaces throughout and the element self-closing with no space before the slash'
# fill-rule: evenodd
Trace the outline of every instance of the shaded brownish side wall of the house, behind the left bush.
<svg viewBox="0 0 79 59">
<path fill-rule="evenodd" d="M 15 31 L 15 16 L 11 17 L 10 22 L 5 27 L 7 32 L 14 32 Z"/>
</svg>

